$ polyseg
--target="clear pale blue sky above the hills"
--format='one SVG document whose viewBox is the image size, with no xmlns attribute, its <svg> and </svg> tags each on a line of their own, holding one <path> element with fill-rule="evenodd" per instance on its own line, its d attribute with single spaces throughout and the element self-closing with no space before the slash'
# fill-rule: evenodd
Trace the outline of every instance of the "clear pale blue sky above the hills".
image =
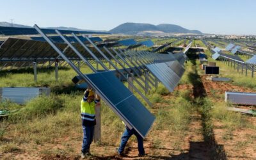
<svg viewBox="0 0 256 160">
<path fill-rule="evenodd" d="M 256 35 L 255 0 L 0 0 L 0 22 L 109 30 L 124 22 Z"/>
</svg>

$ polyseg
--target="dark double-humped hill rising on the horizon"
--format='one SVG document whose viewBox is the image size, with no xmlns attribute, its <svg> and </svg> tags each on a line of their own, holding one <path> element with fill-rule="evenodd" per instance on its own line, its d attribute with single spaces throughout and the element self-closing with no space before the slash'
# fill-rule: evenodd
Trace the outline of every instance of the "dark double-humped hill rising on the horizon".
<svg viewBox="0 0 256 160">
<path fill-rule="evenodd" d="M 160 31 L 164 33 L 193 33 L 193 34 L 202 34 L 202 32 L 197 30 L 189 30 L 182 28 L 174 24 L 159 24 L 157 26 L 153 24 L 144 24 L 144 23 L 124 23 L 120 24 L 116 28 L 111 29 L 110 33 L 122 33 L 128 35 L 136 35 L 143 31 Z"/>
</svg>

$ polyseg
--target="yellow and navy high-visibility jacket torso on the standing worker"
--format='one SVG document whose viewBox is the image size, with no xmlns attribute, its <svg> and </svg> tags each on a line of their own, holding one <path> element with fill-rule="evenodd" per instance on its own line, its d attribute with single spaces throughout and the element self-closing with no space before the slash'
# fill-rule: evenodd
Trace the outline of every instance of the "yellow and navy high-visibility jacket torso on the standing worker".
<svg viewBox="0 0 256 160">
<path fill-rule="evenodd" d="M 95 102 L 81 100 L 81 118 L 83 125 L 95 125 Z"/>
</svg>

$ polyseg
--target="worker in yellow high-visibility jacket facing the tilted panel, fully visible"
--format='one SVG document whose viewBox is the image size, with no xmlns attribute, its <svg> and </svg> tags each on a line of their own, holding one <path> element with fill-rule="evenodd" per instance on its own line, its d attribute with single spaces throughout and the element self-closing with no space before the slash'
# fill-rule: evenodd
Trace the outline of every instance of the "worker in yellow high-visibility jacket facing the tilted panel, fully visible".
<svg viewBox="0 0 256 160">
<path fill-rule="evenodd" d="M 81 157 L 90 156 L 90 145 L 93 140 L 95 120 L 95 104 L 100 102 L 100 97 L 94 94 L 91 88 L 84 92 L 84 97 L 81 100 L 81 118 L 83 127 L 83 145 Z"/>
</svg>

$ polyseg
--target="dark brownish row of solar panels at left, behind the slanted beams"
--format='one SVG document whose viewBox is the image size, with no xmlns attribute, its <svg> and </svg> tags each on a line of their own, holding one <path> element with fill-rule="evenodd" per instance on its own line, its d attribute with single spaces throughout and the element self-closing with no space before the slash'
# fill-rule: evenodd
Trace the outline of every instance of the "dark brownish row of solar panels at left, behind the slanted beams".
<svg viewBox="0 0 256 160">
<path fill-rule="evenodd" d="M 75 52 L 66 48 L 66 44 L 56 44 L 62 51 L 65 49 L 65 53 L 69 58 L 78 58 Z M 79 52 L 81 52 L 84 57 L 92 58 L 92 56 L 79 44 L 74 44 Z M 95 54 L 102 58 L 93 47 L 89 47 Z M 108 55 L 108 54 L 106 54 Z M 57 58 L 59 55 L 51 45 L 47 42 L 35 41 L 35 40 L 23 40 L 18 38 L 8 38 L 0 46 L 0 60 L 3 59 L 13 59 L 13 58 Z M 108 56 L 110 58 L 110 56 Z"/>
</svg>

